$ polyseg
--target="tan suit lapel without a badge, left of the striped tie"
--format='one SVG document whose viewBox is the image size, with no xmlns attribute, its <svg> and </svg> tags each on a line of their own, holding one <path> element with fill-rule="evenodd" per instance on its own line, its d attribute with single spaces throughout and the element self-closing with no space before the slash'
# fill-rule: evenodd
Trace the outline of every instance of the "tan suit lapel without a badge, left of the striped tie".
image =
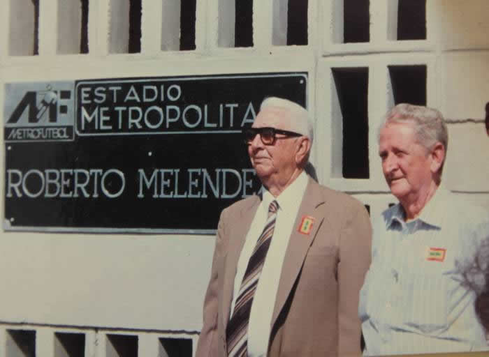
<svg viewBox="0 0 489 357">
<path fill-rule="evenodd" d="M 233 289 L 236 271 L 238 270 L 238 260 L 240 259 L 241 250 L 245 244 L 246 236 L 251 227 L 251 222 L 256 214 L 256 210 L 261 203 L 258 196 L 249 203 L 248 206 L 242 209 L 238 220 L 233 220 L 233 228 L 231 228 L 231 236 L 229 241 L 228 255 L 224 261 L 224 287 L 223 287 L 223 314 L 224 331 L 229 321 L 231 312 L 231 301 L 233 300 Z"/>
</svg>

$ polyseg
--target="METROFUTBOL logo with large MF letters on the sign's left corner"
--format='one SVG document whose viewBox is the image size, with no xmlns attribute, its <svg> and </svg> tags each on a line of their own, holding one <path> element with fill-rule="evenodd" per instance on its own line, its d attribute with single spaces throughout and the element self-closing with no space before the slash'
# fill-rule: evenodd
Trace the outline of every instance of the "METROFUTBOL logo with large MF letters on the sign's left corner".
<svg viewBox="0 0 489 357">
<path fill-rule="evenodd" d="M 5 141 L 73 140 L 72 88 L 68 82 L 7 84 Z"/>
</svg>

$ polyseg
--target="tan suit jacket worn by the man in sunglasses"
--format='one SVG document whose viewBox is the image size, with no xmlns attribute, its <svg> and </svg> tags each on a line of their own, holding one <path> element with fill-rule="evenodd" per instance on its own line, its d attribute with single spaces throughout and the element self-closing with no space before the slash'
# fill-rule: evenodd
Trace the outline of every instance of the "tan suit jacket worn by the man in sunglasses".
<svg viewBox="0 0 489 357">
<path fill-rule="evenodd" d="M 226 356 L 236 267 L 261 203 L 248 197 L 221 213 L 197 357 Z M 298 230 L 314 218 L 309 234 Z M 372 229 L 356 199 L 309 179 L 286 250 L 268 356 L 360 356 L 358 294 L 370 265 Z"/>
</svg>

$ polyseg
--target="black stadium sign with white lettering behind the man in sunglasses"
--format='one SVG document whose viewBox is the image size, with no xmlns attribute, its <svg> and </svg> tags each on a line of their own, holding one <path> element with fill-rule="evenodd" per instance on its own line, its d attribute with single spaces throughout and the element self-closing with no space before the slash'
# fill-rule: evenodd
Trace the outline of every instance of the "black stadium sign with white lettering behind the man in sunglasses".
<svg viewBox="0 0 489 357">
<path fill-rule="evenodd" d="M 210 233 L 261 189 L 240 132 L 307 74 L 6 84 L 5 229 Z"/>
</svg>

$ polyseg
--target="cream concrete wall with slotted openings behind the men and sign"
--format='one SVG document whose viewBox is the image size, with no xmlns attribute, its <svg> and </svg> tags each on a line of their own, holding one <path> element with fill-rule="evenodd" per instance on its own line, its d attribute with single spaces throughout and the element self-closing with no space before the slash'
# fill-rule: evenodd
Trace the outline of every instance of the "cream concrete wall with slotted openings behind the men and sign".
<svg viewBox="0 0 489 357">
<path fill-rule="evenodd" d="M 353 2 L 366 10 L 356 20 Z M 407 2 L 421 3 L 415 15 L 402 13 Z M 0 107 L 6 100 L 4 84 L 11 82 L 305 71 L 319 181 L 360 199 L 375 220 L 395 202 L 381 174 L 377 127 L 395 102 L 395 89 L 403 84 L 399 78 L 421 70 L 413 75 L 421 81 L 412 86 L 416 93 L 407 95 L 425 91 L 427 105 L 448 120 L 444 180 L 459 195 L 489 207 L 489 137 L 483 125 L 489 101 L 486 0 L 376 0 L 363 7 L 362 1 L 309 0 L 307 45 L 286 45 L 284 1 L 253 1 L 249 47 L 236 47 L 233 1 L 198 0 L 194 49 L 182 51 L 182 26 L 188 24 L 180 20 L 180 2 L 142 0 L 140 50 L 136 46 L 129 53 L 134 51 L 131 3 L 138 1 L 3 1 Z M 424 38 L 398 40 L 409 38 L 409 31 L 398 27 L 410 21 L 425 24 Z M 365 85 L 351 82 L 351 73 Z M 366 129 L 358 130 L 355 117 L 344 112 L 340 98 L 348 93 L 342 83 L 353 88 L 353 98 L 366 100 L 360 113 Z M 366 142 L 353 149 L 367 162 L 367 174 L 357 174 L 351 163 L 356 161 L 343 160 L 356 152 L 347 154 L 344 132 Z M 2 217 L 3 210 L 2 204 Z M 202 235 L 1 231 L 0 356 L 31 356 L 32 348 L 36 356 L 80 356 L 80 346 L 85 357 L 123 356 L 120 349 L 132 351 L 131 356 L 177 356 L 171 338 L 191 355 L 213 250 L 214 237 Z M 75 351 L 68 351 L 72 347 Z"/>
</svg>

